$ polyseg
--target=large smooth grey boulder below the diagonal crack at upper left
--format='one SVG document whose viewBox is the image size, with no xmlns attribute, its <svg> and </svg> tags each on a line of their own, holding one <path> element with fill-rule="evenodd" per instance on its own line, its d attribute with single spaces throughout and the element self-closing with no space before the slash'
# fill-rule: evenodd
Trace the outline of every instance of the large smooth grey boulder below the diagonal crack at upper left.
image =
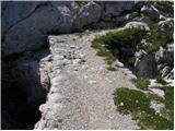
<svg viewBox="0 0 175 131">
<path fill-rule="evenodd" d="M 22 13 L 22 10 L 19 12 Z M 15 17 L 15 15 L 12 17 Z M 2 23 L 4 23 L 3 21 L 5 19 L 2 20 Z M 31 15 L 21 20 L 5 34 L 2 52 L 4 56 L 8 56 L 38 49 L 44 45 L 47 34 L 54 32 L 69 33 L 71 26 L 71 12 L 65 4 L 58 7 L 39 5 Z"/>
</svg>

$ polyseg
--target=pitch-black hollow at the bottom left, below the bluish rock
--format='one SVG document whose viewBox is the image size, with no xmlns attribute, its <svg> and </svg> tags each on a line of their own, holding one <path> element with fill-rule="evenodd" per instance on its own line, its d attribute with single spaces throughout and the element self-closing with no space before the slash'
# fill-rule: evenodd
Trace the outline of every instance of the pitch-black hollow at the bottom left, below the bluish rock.
<svg viewBox="0 0 175 131">
<path fill-rule="evenodd" d="M 11 127 L 12 129 L 21 130 L 33 129 L 42 117 L 39 110 L 34 109 L 27 104 L 26 93 L 15 85 L 12 88 L 2 90 L 2 111 L 5 110 L 5 114 L 11 118 L 11 120 L 8 121 L 11 126 L 5 127 L 2 124 L 2 129 L 11 129 Z"/>
</svg>

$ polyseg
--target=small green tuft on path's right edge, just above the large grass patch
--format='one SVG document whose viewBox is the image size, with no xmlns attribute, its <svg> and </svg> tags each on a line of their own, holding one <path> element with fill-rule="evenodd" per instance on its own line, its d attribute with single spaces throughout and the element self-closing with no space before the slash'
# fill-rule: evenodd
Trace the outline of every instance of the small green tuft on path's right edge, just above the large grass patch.
<svg viewBox="0 0 175 131">
<path fill-rule="evenodd" d="M 150 84 L 150 81 L 148 79 L 144 79 L 144 78 L 138 78 L 138 79 L 132 79 L 131 80 L 135 85 L 140 88 L 140 90 L 148 90 L 149 87 L 149 84 Z"/>
</svg>

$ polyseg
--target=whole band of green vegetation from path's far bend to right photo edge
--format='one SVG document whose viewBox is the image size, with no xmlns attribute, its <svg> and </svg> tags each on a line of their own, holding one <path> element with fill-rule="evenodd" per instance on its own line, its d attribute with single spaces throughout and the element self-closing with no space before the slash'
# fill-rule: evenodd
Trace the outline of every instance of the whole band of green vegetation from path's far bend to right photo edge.
<svg viewBox="0 0 175 131">
<path fill-rule="evenodd" d="M 145 47 L 144 44 L 141 44 L 142 39 L 151 45 Z M 109 32 L 95 38 L 92 41 L 92 47 L 97 49 L 97 55 L 104 57 L 109 66 L 115 62 L 116 57 L 121 59 L 121 62 L 133 66 L 135 55 L 128 55 L 128 50 L 143 49 L 151 53 L 158 51 L 161 46 L 165 48 L 166 44 L 171 41 L 173 41 L 173 32 L 161 31 L 158 24 L 152 24 L 149 32 L 138 27 Z M 115 49 L 119 50 L 117 56 Z"/>
</svg>

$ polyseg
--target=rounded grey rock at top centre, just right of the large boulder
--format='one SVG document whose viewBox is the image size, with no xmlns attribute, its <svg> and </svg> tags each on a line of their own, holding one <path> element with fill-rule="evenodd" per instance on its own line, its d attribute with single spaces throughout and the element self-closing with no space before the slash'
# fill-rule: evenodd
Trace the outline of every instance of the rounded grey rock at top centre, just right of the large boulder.
<svg viewBox="0 0 175 131">
<path fill-rule="evenodd" d="M 83 26 L 95 23 L 101 17 L 101 7 L 95 2 L 89 2 L 88 4 L 81 7 L 78 13 L 74 15 L 74 29 L 80 29 Z"/>
</svg>

